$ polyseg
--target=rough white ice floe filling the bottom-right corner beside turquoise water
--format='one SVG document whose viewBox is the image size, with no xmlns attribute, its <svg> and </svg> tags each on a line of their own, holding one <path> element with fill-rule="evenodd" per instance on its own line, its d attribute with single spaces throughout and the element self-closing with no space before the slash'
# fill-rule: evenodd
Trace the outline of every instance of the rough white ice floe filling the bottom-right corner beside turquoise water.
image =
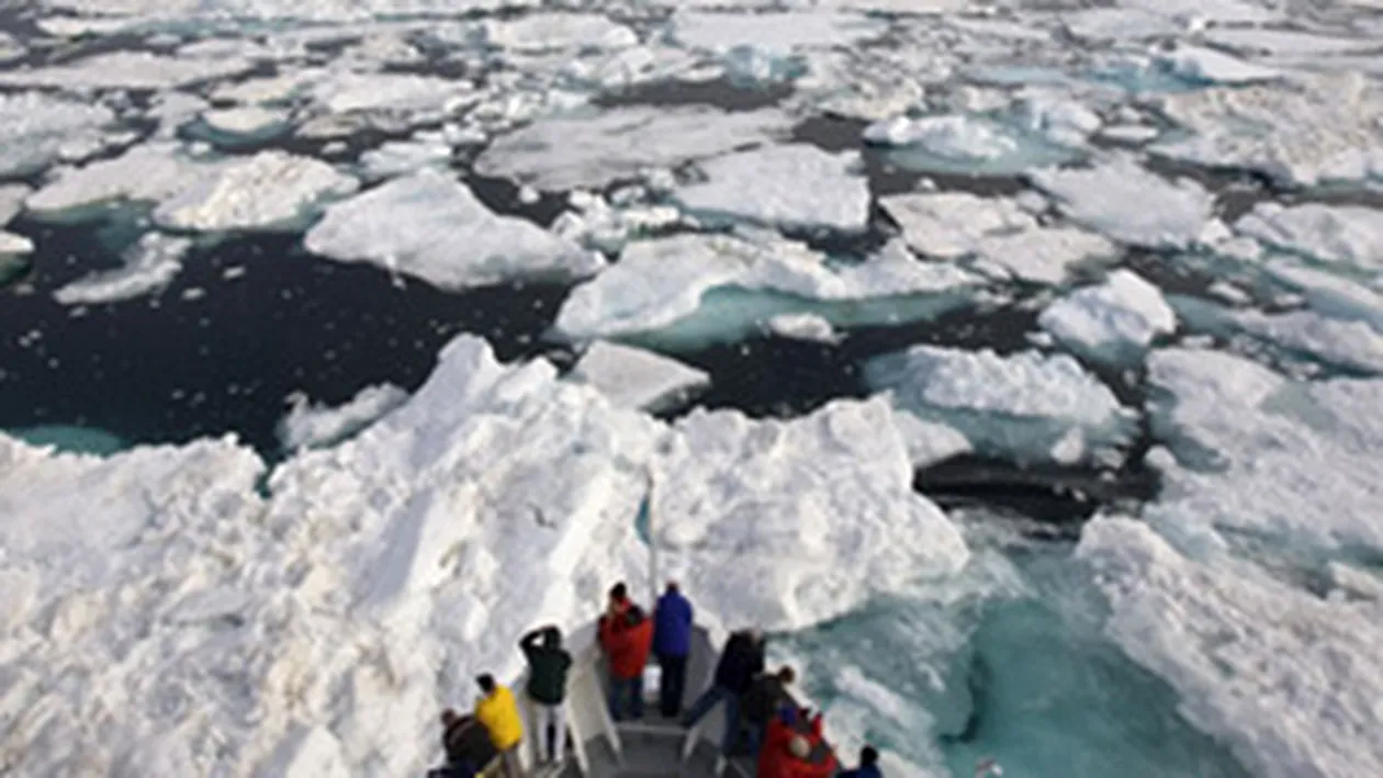
<svg viewBox="0 0 1383 778">
<path fill-rule="evenodd" d="M 1127 518 L 1087 524 L 1076 554 L 1109 601 L 1111 637 L 1253 775 L 1383 771 L 1376 607 L 1326 603 L 1229 560 L 1192 561 Z"/>
</svg>

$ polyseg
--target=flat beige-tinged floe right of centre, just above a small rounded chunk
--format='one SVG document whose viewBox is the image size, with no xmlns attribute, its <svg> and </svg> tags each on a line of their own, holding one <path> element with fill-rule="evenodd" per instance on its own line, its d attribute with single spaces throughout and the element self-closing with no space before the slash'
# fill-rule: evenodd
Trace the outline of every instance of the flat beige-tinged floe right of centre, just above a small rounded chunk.
<svg viewBox="0 0 1383 778">
<path fill-rule="evenodd" d="M 913 250 L 938 258 L 971 258 L 986 272 L 1055 285 L 1079 265 L 1113 260 L 1119 250 L 1094 232 L 1044 227 L 1018 200 L 968 192 L 892 195 L 880 206 Z"/>
</svg>

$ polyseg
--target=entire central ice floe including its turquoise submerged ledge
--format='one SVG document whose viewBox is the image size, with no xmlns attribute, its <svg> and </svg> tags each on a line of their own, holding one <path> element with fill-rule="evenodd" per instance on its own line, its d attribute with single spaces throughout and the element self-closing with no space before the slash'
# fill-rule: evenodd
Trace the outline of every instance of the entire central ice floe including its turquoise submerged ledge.
<svg viewBox="0 0 1383 778">
<path fill-rule="evenodd" d="M 978 282 L 898 243 L 851 264 L 777 236 L 676 235 L 626 246 L 571 292 L 555 329 L 574 340 L 633 337 L 683 350 L 739 340 L 788 312 L 842 326 L 925 319 L 965 304 Z"/>
</svg>

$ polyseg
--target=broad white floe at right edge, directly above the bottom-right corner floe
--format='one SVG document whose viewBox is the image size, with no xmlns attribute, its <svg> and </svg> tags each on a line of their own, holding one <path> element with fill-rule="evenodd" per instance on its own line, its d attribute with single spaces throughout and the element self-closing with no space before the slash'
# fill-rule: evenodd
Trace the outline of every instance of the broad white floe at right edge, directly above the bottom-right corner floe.
<svg viewBox="0 0 1383 778">
<path fill-rule="evenodd" d="M 1299 547 L 1383 549 L 1383 380 L 1294 381 L 1200 348 L 1153 351 L 1148 366 L 1167 397 L 1153 433 L 1178 460 L 1156 515 Z"/>
</svg>

